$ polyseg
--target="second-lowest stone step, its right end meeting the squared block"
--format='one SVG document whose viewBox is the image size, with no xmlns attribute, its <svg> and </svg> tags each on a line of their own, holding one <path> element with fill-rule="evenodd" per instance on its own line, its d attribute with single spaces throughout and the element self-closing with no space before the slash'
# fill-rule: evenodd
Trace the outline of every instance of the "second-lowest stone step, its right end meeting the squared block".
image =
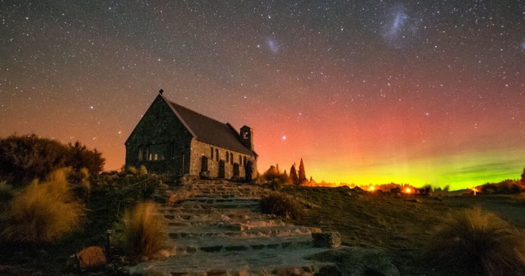
<svg viewBox="0 0 525 276">
<path fill-rule="evenodd" d="M 312 247 L 312 238 L 310 235 L 244 239 L 213 237 L 198 240 L 172 241 L 169 243 L 169 246 L 172 247 L 171 253 L 173 255 L 264 249 L 299 249 Z"/>
</svg>

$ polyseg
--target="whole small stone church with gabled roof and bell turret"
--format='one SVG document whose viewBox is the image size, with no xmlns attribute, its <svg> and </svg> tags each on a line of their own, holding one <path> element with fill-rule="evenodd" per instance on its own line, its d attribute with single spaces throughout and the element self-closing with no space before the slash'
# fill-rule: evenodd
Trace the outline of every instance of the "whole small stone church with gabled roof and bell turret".
<svg viewBox="0 0 525 276">
<path fill-rule="evenodd" d="M 252 179 L 258 156 L 253 135 L 246 125 L 238 132 L 171 102 L 161 89 L 125 142 L 126 165 L 144 165 L 152 173 Z"/>
</svg>

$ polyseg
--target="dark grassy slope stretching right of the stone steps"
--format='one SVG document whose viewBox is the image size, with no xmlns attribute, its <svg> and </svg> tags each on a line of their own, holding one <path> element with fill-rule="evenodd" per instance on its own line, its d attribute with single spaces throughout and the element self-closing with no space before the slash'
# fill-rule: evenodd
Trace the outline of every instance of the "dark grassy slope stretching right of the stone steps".
<svg viewBox="0 0 525 276">
<path fill-rule="evenodd" d="M 525 227 L 525 206 L 508 196 L 458 196 L 443 201 L 416 196 L 356 194 L 346 188 L 285 187 L 319 208 L 295 221 L 296 224 L 339 231 L 350 246 L 384 249 L 403 275 L 435 274 L 422 265 L 425 244 L 433 230 L 450 211 L 479 205 Z M 419 202 L 414 202 L 418 198 Z"/>
</svg>

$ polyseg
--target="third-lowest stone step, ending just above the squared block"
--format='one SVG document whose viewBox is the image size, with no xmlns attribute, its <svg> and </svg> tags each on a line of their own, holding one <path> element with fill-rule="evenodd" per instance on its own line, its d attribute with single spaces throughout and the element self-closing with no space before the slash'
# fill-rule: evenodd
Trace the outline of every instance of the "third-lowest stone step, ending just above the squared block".
<svg viewBox="0 0 525 276">
<path fill-rule="evenodd" d="M 171 239 L 199 239 L 204 237 L 229 237 L 229 238 L 252 238 L 252 237 L 289 237 L 297 235 L 310 235 L 319 231 L 318 228 L 304 226 L 276 226 L 264 228 L 251 228 L 241 231 L 220 230 L 220 229 L 168 229 L 168 236 Z"/>
</svg>

